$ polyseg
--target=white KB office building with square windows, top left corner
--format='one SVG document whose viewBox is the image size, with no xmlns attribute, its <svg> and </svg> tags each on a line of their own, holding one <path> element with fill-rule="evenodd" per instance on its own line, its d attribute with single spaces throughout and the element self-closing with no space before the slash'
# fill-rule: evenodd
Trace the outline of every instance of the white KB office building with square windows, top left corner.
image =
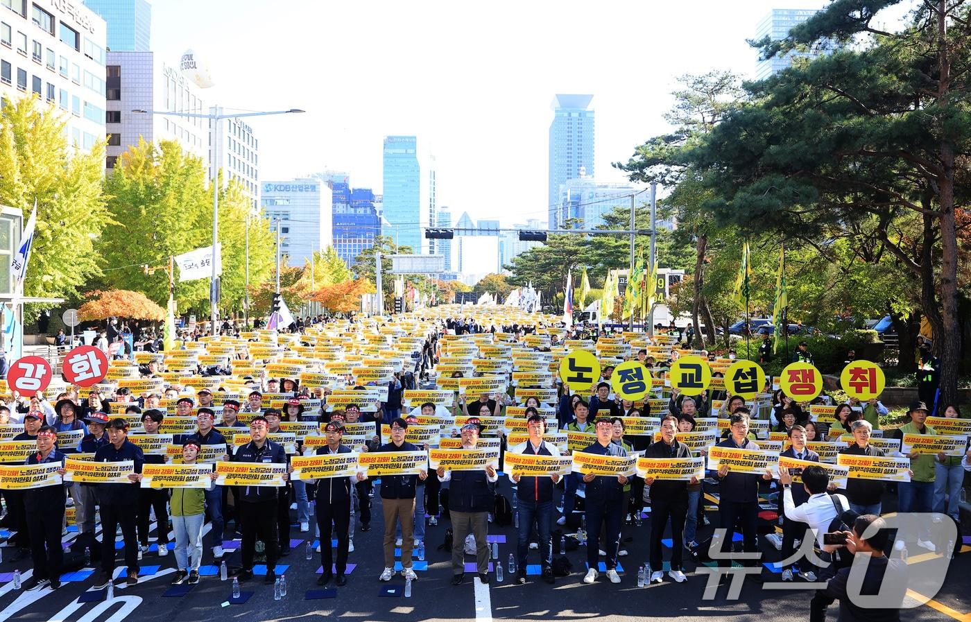
<svg viewBox="0 0 971 622">
<path fill-rule="evenodd" d="M 105 135 L 105 20 L 66 2 L 3 6 L 0 99 L 34 94 L 38 110 L 57 106 L 68 144 L 90 150 Z"/>
</svg>

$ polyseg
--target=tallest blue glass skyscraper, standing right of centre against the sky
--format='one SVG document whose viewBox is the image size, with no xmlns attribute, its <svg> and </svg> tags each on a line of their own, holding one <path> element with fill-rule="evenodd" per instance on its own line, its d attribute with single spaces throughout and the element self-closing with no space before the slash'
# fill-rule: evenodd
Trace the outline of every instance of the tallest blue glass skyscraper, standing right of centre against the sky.
<svg viewBox="0 0 971 622">
<path fill-rule="evenodd" d="M 581 169 L 593 176 L 593 95 L 556 95 L 550 124 L 549 225 L 563 224 L 558 219 L 559 186 L 580 177 Z"/>
</svg>

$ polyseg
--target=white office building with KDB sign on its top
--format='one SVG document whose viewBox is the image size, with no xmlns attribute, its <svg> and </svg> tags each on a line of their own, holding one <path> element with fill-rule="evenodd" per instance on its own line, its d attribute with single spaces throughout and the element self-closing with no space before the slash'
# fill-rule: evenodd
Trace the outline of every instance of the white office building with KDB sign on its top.
<svg viewBox="0 0 971 622">
<path fill-rule="evenodd" d="M 287 265 L 303 266 L 314 253 L 333 244 L 331 190 L 320 180 L 264 181 L 260 200 L 274 230 L 280 220 L 280 249 Z M 321 211 L 321 206 L 328 209 Z"/>
</svg>

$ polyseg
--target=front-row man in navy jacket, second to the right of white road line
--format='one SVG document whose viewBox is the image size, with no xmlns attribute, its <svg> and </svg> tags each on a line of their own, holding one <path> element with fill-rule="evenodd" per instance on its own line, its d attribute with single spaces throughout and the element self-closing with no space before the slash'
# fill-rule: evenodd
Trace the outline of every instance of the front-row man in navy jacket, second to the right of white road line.
<svg viewBox="0 0 971 622">
<path fill-rule="evenodd" d="M 608 417 L 597 419 L 595 424 L 597 442 L 584 449 L 584 453 L 595 453 L 601 456 L 626 457 L 627 450 L 616 442 L 611 442 L 614 436 L 614 423 Z M 586 575 L 584 583 L 592 583 L 597 578 L 597 563 L 599 562 L 600 528 L 606 529 L 604 550 L 607 552 L 607 578 L 611 583 L 619 583 L 617 573 L 617 552 L 620 544 L 620 523 L 623 520 L 623 508 L 626 496 L 623 486 L 627 483 L 626 475 L 593 475 L 588 473 L 583 477 L 586 483 Z"/>
</svg>

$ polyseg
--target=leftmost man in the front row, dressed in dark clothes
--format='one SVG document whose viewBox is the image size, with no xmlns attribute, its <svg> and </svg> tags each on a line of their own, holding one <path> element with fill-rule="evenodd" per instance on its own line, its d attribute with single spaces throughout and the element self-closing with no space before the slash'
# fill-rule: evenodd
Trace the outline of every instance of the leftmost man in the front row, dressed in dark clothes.
<svg viewBox="0 0 971 622">
<path fill-rule="evenodd" d="M 30 531 L 30 554 L 34 562 L 34 574 L 24 583 L 26 591 L 50 585 L 55 590 L 60 587 L 61 565 L 64 551 L 61 548 L 61 526 L 64 521 L 64 454 L 54 447 L 57 432 L 50 426 L 42 427 L 37 433 L 37 453 L 27 457 L 26 465 L 53 465 L 56 470 L 55 481 L 45 480 L 36 487 L 23 493 L 23 507 L 26 510 L 27 528 Z"/>
</svg>

